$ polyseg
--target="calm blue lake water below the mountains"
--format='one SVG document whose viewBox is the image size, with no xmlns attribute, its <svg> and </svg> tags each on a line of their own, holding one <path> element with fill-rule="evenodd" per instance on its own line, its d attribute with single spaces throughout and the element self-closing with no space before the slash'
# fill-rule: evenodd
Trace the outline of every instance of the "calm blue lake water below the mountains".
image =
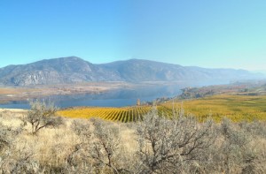
<svg viewBox="0 0 266 174">
<path fill-rule="evenodd" d="M 201 87 L 212 84 L 217 84 L 217 82 L 149 85 L 136 88 L 121 88 L 98 95 L 52 95 L 40 100 L 51 101 L 59 108 L 76 106 L 124 107 L 136 105 L 137 99 L 140 99 L 141 102 L 153 102 L 157 98 L 180 95 L 180 89 L 184 87 Z M 29 102 L 9 102 L 7 104 L 0 104 L 0 108 L 29 109 Z"/>
</svg>

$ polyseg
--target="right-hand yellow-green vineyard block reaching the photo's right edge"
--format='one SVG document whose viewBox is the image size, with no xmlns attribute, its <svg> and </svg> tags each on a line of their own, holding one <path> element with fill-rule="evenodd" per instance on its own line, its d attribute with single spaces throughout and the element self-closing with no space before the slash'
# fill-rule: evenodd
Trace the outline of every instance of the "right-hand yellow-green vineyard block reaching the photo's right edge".
<svg viewBox="0 0 266 174">
<path fill-rule="evenodd" d="M 173 102 L 162 104 L 166 108 L 172 108 Z M 186 114 L 192 114 L 204 121 L 212 117 L 220 122 L 223 117 L 228 117 L 234 122 L 266 120 L 266 95 L 214 95 L 197 100 L 184 101 L 176 106 L 184 109 Z"/>
</svg>

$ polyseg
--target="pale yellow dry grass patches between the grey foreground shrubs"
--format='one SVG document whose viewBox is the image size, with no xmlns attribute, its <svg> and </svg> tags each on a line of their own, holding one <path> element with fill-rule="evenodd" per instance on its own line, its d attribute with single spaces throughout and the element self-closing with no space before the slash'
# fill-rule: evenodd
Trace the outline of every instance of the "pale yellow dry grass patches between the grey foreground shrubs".
<svg viewBox="0 0 266 174">
<path fill-rule="evenodd" d="M 0 122 L 3 125 L 15 128 L 23 124 L 20 119 L 22 115 L 18 113 L 18 110 L 0 110 L 0 114 L 2 114 Z M 20 156 L 32 153 L 32 157 L 40 164 L 51 167 L 66 165 L 67 155 L 73 152 L 75 145 L 81 143 L 82 140 L 71 129 L 73 121 L 77 119 L 64 118 L 64 120 L 65 124 L 58 129 L 46 128 L 36 136 L 30 133 L 31 126 L 27 124 L 24 127 L 25 131 L 19 134 L 13 142 L 12 155 L 20 159 Z M 90 120 L 88 121 L 90 123 Z M 120 126 L 121 148 L 124 152 L 127 154 L 135 152 L 137 141 L 134 139 L 134 131 L 125 125 L 114 125 Z"/>
</svg>

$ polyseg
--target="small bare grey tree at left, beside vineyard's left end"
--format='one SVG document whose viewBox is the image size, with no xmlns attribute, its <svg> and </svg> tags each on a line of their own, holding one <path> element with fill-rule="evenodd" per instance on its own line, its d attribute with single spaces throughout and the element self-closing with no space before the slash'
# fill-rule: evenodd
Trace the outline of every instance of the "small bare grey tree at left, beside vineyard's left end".
<svg viewBox="0 0 266 174">
<path fill-rule="evenodd" d="M 38 101 L 31 102 L 30 105 L 26 121 L 31 125 L 33 134 L 45 127 L 58 127 L 63 124 L 62 117 L 56 116 L 58 109 L 54 105 Z"/>
</svg>

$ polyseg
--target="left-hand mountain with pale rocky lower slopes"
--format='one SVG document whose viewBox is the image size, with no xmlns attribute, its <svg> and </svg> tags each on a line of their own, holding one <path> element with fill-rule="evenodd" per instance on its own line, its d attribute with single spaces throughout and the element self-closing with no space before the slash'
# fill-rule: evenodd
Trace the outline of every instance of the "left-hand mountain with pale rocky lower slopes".
<svg viewBox="0 0 266 174">
<path fill-rule="evenodd" d="M 0 83 L 10 86 L 101 81 L 108 77 L 121 80 L 116 79 L 112 72 L 106 72 L 79 57 L 55 58 L 32 64 L 10 65 L 0 69 Z"/>
</svg>

